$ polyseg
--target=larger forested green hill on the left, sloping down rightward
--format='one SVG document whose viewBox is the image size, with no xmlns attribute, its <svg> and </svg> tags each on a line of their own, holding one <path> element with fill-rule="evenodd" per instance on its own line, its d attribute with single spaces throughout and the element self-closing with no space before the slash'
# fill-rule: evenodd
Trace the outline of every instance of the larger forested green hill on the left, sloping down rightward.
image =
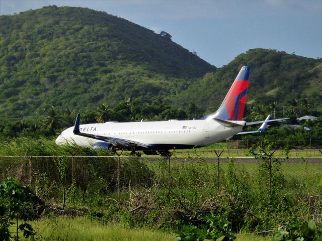
<svg viewBox="0 0 322 241">
<path fill-rule="evenodd" d="M 164 36 L 84 8 L 0 16 L 0 114 L 175 94 L 216 68 Z"/>
</svg>

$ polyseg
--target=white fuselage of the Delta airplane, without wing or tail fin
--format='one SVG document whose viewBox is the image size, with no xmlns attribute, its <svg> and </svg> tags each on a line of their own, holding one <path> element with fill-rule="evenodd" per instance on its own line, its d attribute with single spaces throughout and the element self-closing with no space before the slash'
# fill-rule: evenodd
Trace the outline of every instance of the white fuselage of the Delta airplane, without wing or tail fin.
<svg viewBox="0 0 322 241">
<path fill-rule="evenodd" d="M 222 141 L 243 131 L 244 121 L 235 121 L 236 127 L 224 127 L 211 120 L 193 121 L 160 121 L 103 123 L 79 126 L 81 133 L 120 138 L 143 143 L 154 150 L 185 149 L 207 146 Z M 75 142 L 80 146 L 91 146 L 98 142 L 95 139 L 73 134 L 73 127 L 64 130 L 56 139 L 56 143 Z"/>
</svg>

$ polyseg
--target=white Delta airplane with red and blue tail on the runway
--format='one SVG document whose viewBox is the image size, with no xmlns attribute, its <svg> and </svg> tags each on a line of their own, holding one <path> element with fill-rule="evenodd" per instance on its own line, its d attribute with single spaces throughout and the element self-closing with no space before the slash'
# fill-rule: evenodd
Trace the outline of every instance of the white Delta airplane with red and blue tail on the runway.
<svg viewBox="0 0 322 241">
<path fill-rule="evenodd" d="M 218 110 L 201 119 L 80 125 L 78 113 L 74 127 L 64 130 L 56 139 L 56 144 L 73 142 L 112 152 L 131 150 L 134 154 L 141 150 L 145 154 L 167 156 L 172 149 L 204 147 L 236 134 L 263 132 L 268 122 L 287 118 L 270 119 L 269 115 L 265 121 L 243 121 L 250 71 L 250 66 L 241 67 Z M 243 132 L 246 126 L 256 124 L 262 124 L 257 131 Z"/>
</svg>

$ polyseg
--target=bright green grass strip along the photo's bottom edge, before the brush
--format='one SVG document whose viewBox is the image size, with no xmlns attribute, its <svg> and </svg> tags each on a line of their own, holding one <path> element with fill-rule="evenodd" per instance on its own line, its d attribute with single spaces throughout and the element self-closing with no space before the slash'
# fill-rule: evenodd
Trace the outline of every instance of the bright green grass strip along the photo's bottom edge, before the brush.
<svg viewBox="0 0 322 241">
<path fill-rule="evenodd" d="M 102 224 L 87 217 L 56 217 L 41 218 L 31 222 L 37 232 L 35 238 L 39 240 L 70 240 L 70 241 L 124 241 L 124 240 L 171 240 L 176 233 L 168 233 L 160 230 L 145 228 L 125 228 L 120 224 Z M 13 230 L 14 231 L 14 230 Z M 22 235 L 21 235 L 22 236 Z M 272 236 L 259 236 L 255 234 L 236 234 L 241 241 L 272 240 Z M 30 240 L 24 237 L 21 240 Z"/>
</svg>

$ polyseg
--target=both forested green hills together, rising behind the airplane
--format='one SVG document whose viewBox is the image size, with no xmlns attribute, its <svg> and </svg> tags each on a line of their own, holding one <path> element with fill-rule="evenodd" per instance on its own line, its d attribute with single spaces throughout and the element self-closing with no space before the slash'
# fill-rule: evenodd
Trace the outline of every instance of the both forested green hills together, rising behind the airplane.
<svg viewBox="0 0 322 241">
<path fill-rule="evenodd" d="M 275 103 L 279 114 L 294 102 L 306 102 L 303 114 L 321 107 L 320 59 L 253 49 L 216 69 L 164 31 L 84 8 L 50 6 L 0 22 L 0 119 L 6 121 L 44 116 L 52 106 L 84 113 L 155 97 L 177 108 L 193 102 L 202 115 L 218 107 L 242 65 L 253 67 L 251 104 Z"/>
</svg>

